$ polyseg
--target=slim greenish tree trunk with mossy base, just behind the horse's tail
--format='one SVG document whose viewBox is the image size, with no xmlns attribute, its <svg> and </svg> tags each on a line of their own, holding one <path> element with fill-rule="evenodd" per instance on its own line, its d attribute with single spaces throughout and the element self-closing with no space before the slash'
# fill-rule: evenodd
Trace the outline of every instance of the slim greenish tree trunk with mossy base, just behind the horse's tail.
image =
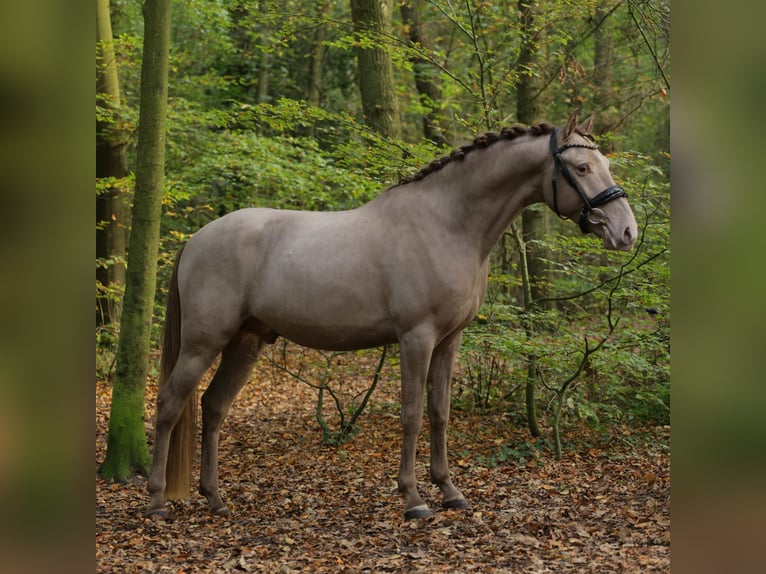
<svg viewBox="0 0 766 574">
<path fill-rule="evenodd" d="M 145 0 L 138 163 L 104 478 L 148 472 L 144 396 L 165 169 L 171 0 Z"/>
</svg>

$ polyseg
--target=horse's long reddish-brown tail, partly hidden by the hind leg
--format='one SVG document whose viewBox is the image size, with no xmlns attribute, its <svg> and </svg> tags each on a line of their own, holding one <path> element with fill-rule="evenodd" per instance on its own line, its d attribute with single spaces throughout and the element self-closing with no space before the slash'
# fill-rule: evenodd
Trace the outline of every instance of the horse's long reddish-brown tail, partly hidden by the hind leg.
<svg viewBox="0 0 766 574">
<path fill-rule="evenodd" d="M 165 311 L 165 332 L 160 359 L 160 381 L 162 386 L 178 361 L 181 349 L 181 299 L 178 294 L 178 264 L 184 246 L 178 250 L 173 264 L 173 274 L 168 288 L 168 305 Z M 197 411 L 199 410 L 196 389 L 186 401 L 181 418 L 170 436 L 167 466 L 165 467 L 165 497 L 187 500 L 191 493 L 191 472 L 197 444 Z"/>
</svg>

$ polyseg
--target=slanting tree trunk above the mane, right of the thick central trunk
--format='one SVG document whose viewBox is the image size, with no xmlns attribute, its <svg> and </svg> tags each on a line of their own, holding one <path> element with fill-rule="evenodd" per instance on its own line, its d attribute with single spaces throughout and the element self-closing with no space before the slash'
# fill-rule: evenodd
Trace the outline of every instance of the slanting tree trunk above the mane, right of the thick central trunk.
<svg viewBox="0 0 766 574">
<path fill-rule="evenodd" d="M 402 23 L 408 30 L 410 46 L 431 49 L 431 41 L 426 36 L 420 20 L 423 12 L 423 0 L 403 0 L 401 3 Z M 440 122 L 437 110 L 442 99 L 441 88 L 437 82 L 435 70 L 427 60 L 417 55 L 410 57 L 415 75 L 415 88 L 420 97 L 420 104 L 426 109 L 423 114 L 423 135 L 436 145 L 451 145 L 452 138 L 446 125 Z"/>
</svg>

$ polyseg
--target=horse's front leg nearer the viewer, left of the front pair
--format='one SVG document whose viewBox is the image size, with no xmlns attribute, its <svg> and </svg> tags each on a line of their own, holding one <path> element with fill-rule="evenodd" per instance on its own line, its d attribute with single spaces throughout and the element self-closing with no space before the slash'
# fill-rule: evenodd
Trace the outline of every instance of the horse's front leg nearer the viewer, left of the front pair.
<svg viewBox="0 0 766 574">
<path fill-rule="evenodd" d="M 423 425 L 423 392 L 433 350 L 430 330 L 414 330 L 400 341 L 402 372 L 402 456 L 399 466 L 399 492 L 405 498 L 406 519 L 428 518 L 431 511 L 418 493 L 415 455 Z"/>
</svg>

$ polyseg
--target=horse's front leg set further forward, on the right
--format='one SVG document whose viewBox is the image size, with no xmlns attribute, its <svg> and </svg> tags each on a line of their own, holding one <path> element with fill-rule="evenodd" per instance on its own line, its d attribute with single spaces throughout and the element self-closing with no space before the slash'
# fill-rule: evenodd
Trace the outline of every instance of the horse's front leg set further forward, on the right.
<svg viewBox="0 0 766 574">
<path fill-rule="evenodd" d="M 450 410 L 450 379 L 462 333 L 434 349 L 428 370 L 428 419 L 431 428 L 431 482 L 442 491 L 444 508 L 468 508 L 462 493 L 449 477 L 447 424 Z"/>
</svg>

